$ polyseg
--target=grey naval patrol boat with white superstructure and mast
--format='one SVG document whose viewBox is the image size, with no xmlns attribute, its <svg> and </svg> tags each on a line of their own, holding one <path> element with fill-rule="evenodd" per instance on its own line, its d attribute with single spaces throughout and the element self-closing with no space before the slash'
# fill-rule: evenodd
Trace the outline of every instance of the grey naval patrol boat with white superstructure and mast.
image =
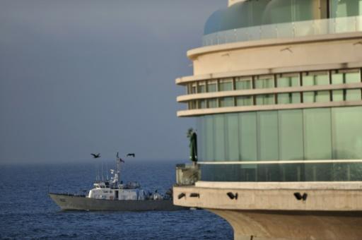
<svg viewBox="0 0 362 240">
<path fill-rule="evenodd" d="M 117 169 L 111 169 L 110 181 L 95 181 L 88 195 L 49 193 L 62 210 L 89 211 L 148 211 L 185 210 L 173 205 L 172 191 L 165 195 L 149 193 L 136 181 L 123 184 L 120 181 L 121 162 L 117 154 Z"/>
</svg>

